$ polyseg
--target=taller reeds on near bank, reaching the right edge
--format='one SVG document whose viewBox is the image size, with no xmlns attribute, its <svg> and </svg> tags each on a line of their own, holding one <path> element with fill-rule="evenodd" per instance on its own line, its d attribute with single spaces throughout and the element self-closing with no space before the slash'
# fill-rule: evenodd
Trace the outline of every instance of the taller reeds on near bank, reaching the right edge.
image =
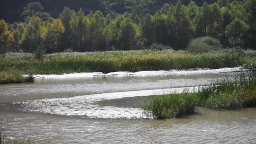
<svg viewBox="0 0 256 144">
<path fill-rule="evenodd" d="M 233 79 L 225 79 L 201 87 L 201 105 L 209 109 L 239 109 L 256 106 L 256 73 L 240 72 Z"/>
</svg>

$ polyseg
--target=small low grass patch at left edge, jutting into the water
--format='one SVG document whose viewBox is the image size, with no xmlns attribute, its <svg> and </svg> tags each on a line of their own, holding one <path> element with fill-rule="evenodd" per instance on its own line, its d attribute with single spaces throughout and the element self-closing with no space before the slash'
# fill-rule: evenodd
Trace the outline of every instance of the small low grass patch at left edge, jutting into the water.
<svg viewBox="0 0 256 144">
<path fill-rule="evenodd" d="M 34 82 L 32 75 L 23 77 L 18 72 L 0 72 L 0 84 Z"/>
</svg>

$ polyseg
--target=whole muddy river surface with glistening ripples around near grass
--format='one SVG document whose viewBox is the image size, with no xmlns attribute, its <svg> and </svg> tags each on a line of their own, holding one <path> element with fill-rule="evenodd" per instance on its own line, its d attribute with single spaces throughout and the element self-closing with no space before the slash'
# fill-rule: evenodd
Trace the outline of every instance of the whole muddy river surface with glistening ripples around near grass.
<svg viewBox="0 0 256 144">
<path fill-rule="evenodd" d="M 59 144 L 256 144 L 256 109 L 210 111 L 155 120 L 152 95 L 196 91 L 238 68 L 36 75 L 0 85 L 0 126 L 8 139 Z"/>
</svg>

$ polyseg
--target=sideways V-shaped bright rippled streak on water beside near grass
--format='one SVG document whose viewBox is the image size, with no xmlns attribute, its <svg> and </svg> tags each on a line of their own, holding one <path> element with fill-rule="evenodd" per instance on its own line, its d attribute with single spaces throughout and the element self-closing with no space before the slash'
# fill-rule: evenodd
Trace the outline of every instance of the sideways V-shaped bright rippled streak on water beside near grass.
<svg viewBox="0 0 256 144">
<path fill-rule="evenodd" d="M 86 116 L 97 118 L 152 118 L 152 116 L 146 116 L 142 108 L 118 108 L 114 106 L 101 107 L 95 103 L 101 100 L 182 93 L 183 91 L 193 92 L 196 90 L 198 90 L 198 87 L 138 90 L 84 95 L 69 98 L 29 100 L 16 102 L 15 104 L 22 106 L 20 110 L 66 116 Z"/>
</svg>

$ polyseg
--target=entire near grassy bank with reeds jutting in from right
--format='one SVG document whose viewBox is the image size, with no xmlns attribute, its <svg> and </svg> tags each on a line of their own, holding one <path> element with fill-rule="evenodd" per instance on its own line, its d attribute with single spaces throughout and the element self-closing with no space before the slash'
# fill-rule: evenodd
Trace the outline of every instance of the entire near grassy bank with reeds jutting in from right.
<svg viewBox="0 0 256 144">
<path fill-rule="evenodd" d="M 144 109 L 158 119 L 197 113 L 196 107 L 213 110 L 256 107 L 256 73 L 238 73 L 235 78 L 213 82 L 195 93 L 155 96 Z"/>
</svg>

